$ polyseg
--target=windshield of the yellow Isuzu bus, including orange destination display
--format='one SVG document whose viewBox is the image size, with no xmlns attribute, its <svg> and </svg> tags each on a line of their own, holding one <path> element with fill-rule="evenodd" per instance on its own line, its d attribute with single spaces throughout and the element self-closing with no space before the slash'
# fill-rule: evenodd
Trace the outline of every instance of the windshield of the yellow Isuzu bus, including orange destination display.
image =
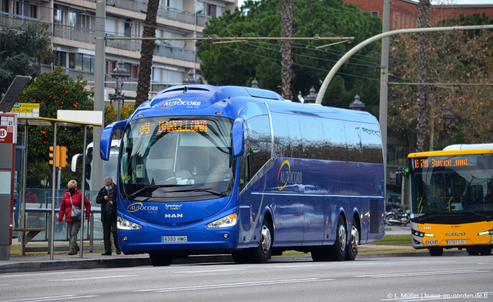
<svg viewBox="0 0 493 302">
<path fill-rule="evenodd" d="M 409 164 L 412 218 L 493 214 L 492 154 L 411 158 Z"/>
</svg>

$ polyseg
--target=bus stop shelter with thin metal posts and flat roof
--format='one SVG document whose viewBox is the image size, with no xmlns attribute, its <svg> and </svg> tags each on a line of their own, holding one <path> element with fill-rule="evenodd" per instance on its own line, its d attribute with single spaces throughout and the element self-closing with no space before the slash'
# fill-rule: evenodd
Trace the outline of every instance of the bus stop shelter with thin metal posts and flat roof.
<svg viewBox="0 0 493 302">
<path fill-rule="evenodd" d="M 23 203 L 21 207 L 21 226 L 22 228 L 26 228 L 26 220 L 25 220 L 25 212 L 26 212 L 26 186 L 27 186 L 27 150 L 28 150 L 28 130 L 29 126 L 51 126 L 53 127 L 53 173 L 52 173 L 52 197 L 51 197 L 51 219 L 49 221 L 49 233 L 48 233 L 48 245 L 50 247 L 50 259 L 53 259 L 53 241 L 54 241 L 54 233 L 55 233 L 55 190 L 56 190 L 56 157 L 59 155 L 56 154 L 56 149 L 57 149 L 57 127 L 58 126 L 64 126 L 64 127 L 82 127 L 84 129 L 84 140 L 83 140 L 83 149 L 82 149 L 82 163 L 85 163 L 86 160 L 86 145 L 87 145 L 87 127 L 102 127 L 103 124 L 103 112 L 102 111 L 86 111 L 86 110 L 58 110 L 57 114 L 57 119 L 53 118 L 45 118 L 45 117 L 38 117 L 38 118 L 28 118 L 28 117 L 18 117 L 17 123 L 18 125 L 24 125 L 24 146 L 26 148 L 26 154 L 24 156 L 24 162 L 23 162 L 23 190 L 22 190 L 22 197 L 23 197 Z M 85 182 L 84 182 L 84 175 L 85 175 L 85 165 L 82 165 L 82 181 L 81 181 L 81 191 L 82 194 L 85 193 Z M 83 250 L 84 250 L 84 245 L 83 245 L 83 238 L 84 238 L 84 206 L 83 206 L 83 199 L 82 199 L 82 206 L 81 206 L 81 221 L 80 221 L 80 254 L 79 257 L 82 258 L 83 255 Z M 21 240 L 24 240 L 25 232 L 22 232 L 22 237 Z M 23 241 L 24 242 L 24 241 Z M 22 245 L 21 248 L 21 254 L 24 255 L 24 244 Z"/>
</svg>

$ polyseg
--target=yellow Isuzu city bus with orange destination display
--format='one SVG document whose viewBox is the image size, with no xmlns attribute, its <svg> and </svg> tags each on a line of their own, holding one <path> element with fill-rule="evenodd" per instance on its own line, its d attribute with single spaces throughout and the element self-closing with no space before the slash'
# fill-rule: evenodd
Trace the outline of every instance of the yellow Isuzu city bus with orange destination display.
<svg viewBox="0 0 493 302">
<path fill-rule="evenodd" d="M 409 177 L 413 247 L 427 248 L 431 256 L 450 248 L 490 255 L 493 144 L 452 145 L 408 159 L 403 174 Z"/>
</svg>

